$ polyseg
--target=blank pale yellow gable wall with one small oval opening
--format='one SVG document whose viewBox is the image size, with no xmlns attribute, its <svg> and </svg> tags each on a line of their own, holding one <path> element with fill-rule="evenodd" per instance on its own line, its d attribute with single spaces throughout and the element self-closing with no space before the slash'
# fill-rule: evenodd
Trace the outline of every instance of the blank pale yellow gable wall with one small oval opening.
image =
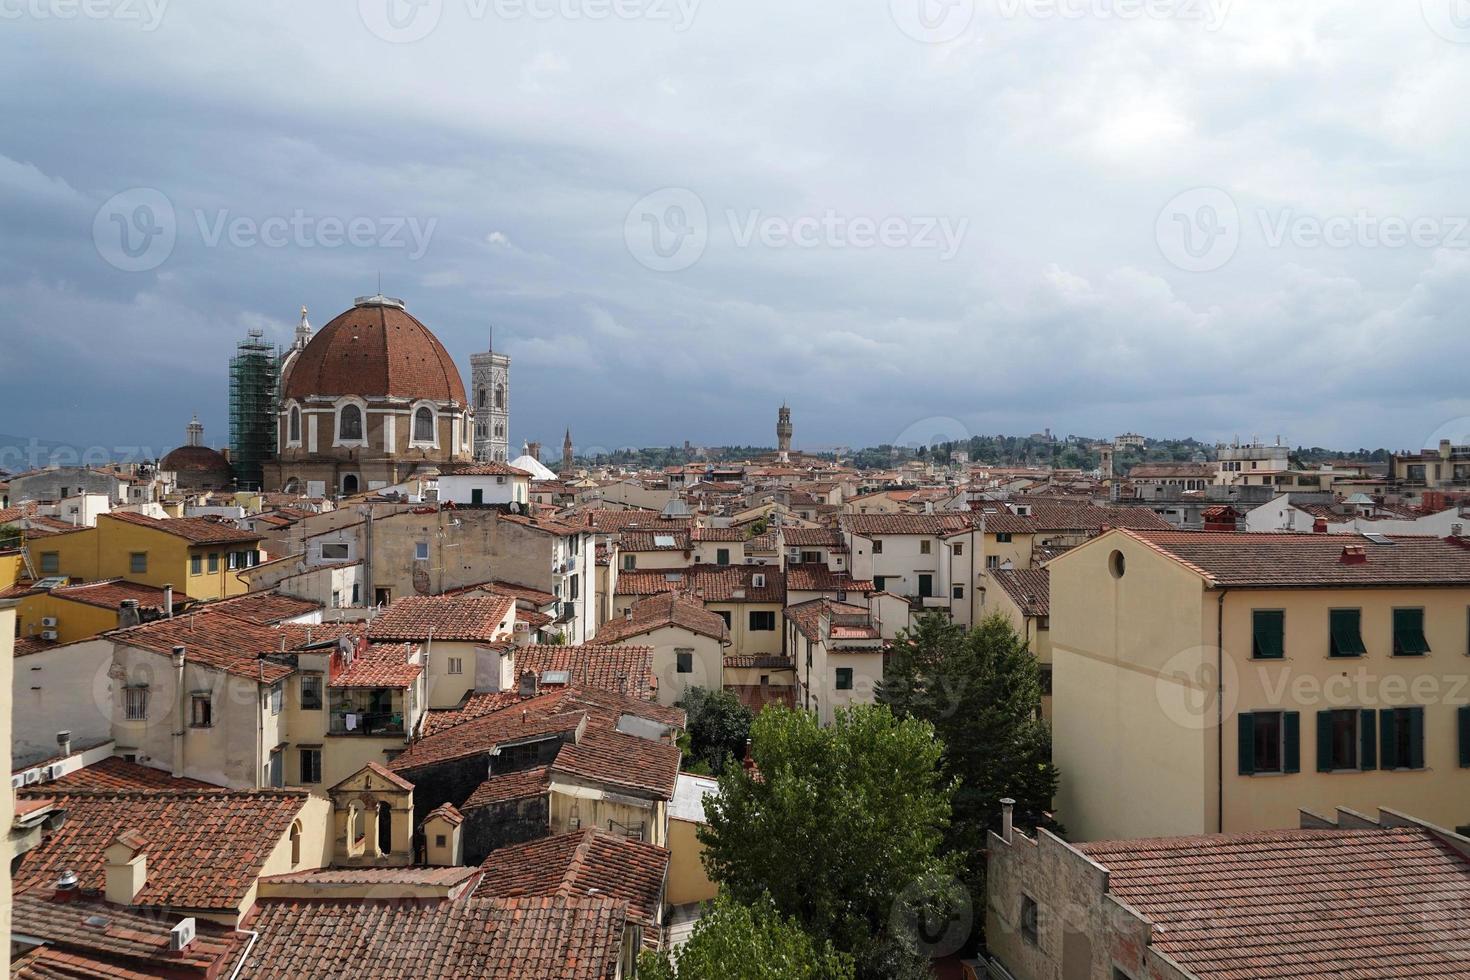
<svg viewBox="0 0 1470 980">
<path fill-rule="evenodd" d="M 1122 577 L 1108 569 L 1114 551 Z M 1050 569 L 1053 758 L 1069 837 L 1213 832 L 1216 674 L 1202 580 L 1120 533 Z"/>
</svg>

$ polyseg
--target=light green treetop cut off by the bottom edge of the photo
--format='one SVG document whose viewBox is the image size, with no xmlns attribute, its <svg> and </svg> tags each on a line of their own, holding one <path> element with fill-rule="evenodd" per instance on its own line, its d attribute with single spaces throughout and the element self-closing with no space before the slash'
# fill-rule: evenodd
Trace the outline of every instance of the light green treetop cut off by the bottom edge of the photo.
<svg viewBox="0 0 1470 980">
<path fill-rule="evenodd" d="M 694 924 L 673 956 L 647 951 L 638 959 L 645 980 L 850 980 L 853 958 L 817 943 L 794 920 L 763 899 L 741 905 L 722 895 Z"/>
</svg>

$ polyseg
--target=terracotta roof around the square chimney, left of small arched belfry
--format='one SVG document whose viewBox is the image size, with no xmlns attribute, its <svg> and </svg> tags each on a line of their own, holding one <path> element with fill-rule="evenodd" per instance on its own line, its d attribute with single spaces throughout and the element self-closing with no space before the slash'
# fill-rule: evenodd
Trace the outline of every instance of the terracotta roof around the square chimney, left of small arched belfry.
<svg viewBox="0 0 1470 980">
<path fill-rule="evenodd" d="M 148 880 L 137 905 L 235 911 L 270 851 L 309 799 L 291 790 L 56 792 L 62 826 L 21 858 L 15 883 L 53 884 L 72 870 L 84 889 L 104 886 L 103 851 L 146 827 Z"/>
</svg>

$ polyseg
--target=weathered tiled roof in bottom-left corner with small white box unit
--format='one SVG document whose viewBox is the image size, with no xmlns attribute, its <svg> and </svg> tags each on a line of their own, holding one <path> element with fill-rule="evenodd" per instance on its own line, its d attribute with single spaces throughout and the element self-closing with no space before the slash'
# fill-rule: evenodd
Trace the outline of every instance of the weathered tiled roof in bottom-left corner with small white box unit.
<svg viewBox="0 0 1470 980">
<path fill-rule="evenodd" d="M 54 890 L 18 892 L 12 907 L 12 932 L 34 936 L 47 945 L 40 956 L 16 961 L 12 977 L 163 977 L 229 976 L 248 936 L 196 923 L 194 942 L 179 952 L 169 951 L 169 930 L 181 915 L 159 915 L 98 901 L 57 902 Z M 101 920 L 100 923 L 97 920 Z"/>
</svg>

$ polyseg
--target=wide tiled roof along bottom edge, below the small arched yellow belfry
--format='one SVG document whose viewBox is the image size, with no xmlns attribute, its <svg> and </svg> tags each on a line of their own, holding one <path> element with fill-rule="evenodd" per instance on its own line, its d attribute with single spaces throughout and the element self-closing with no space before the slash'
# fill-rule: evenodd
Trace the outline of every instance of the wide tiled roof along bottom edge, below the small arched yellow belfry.
<svg viewBox="0 0 1470 980">
<path fill-rule="evenodd" d="M 610 898 L 260 902 L 241 979 L 613 980 L 628 907 Z"/>
</svg>

